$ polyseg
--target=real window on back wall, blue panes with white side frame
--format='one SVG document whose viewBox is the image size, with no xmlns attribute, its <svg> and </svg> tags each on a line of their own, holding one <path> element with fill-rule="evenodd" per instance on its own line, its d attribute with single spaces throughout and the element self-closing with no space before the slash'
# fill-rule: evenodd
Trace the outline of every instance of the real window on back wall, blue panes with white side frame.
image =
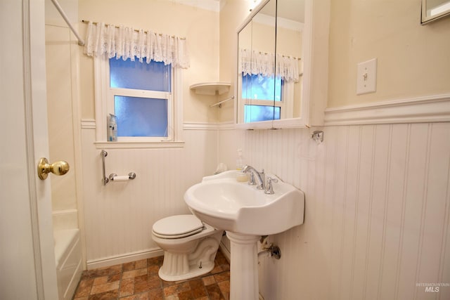
<svg viewBox="0 0 450 300">
<path fill-rule="evenodd" d="M 181 71 L 154 60 L 140 63 L 137 58 L 96 58 L 95 62 L 97 141 L 106 141 L 109 114 L 116 115 L 119 143 L 136 146 L 180 138 L 181 120 L 176 118 L 181 116 L 177 103 Z"/>
</svg>

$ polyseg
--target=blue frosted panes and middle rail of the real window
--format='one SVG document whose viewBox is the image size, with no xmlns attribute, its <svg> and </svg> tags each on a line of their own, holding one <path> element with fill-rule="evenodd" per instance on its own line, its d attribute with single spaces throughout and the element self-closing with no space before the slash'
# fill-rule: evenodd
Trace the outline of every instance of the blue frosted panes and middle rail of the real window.
<svg viewBox="0 0 450 300">
<path fill-rule="evenodd" d="M 114 98 L 117 137 L 170 138 L 171 69 L 153 60 L 140 63 L 110 58 L 110 97 Z"/>
</svg>

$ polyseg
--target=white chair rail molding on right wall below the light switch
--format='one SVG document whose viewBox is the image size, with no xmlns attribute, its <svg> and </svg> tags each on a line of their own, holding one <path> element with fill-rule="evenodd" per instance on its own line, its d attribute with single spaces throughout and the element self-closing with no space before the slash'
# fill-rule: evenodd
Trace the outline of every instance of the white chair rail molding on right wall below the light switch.
<svg viewBox="0 0 450 300">
<path fill-rule="evenodd" d="M 450 94 L 327 108 L 325 125 L 450 122 Z"/>
</svg>

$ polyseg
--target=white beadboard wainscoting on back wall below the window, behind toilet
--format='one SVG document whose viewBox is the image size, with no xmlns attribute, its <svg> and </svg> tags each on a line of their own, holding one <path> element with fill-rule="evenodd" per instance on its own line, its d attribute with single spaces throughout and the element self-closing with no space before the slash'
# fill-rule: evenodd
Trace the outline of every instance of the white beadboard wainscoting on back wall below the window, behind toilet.
<svg viewBox="0 0 450 300">
<path fill-rule="evenodd" d="M 83 202 L 89 269 L 162 255 L 151 239 L 155 221 L 188 214 L 183 196 L 217 167 L 217 130 L 188 124 L 181 148 L 106 149 L 106 176 L 136 173 L 133 181 L 102 183 L 95 122 L 82 122 Z"/>
</svg>

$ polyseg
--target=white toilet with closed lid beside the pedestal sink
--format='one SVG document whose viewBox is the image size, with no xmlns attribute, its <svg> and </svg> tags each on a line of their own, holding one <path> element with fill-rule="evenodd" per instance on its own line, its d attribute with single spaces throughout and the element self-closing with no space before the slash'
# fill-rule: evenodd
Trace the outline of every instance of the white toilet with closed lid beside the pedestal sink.
<svg viewBox="0 0 450 300">
<path fill-rule="evenodd" d="M 164 250 L 160 278 L 178 281 L 210 272 L 223 230 L 202 223 L 193 214 L 169 216 L 153 224 L 152 238 Z"/>
</svg>

